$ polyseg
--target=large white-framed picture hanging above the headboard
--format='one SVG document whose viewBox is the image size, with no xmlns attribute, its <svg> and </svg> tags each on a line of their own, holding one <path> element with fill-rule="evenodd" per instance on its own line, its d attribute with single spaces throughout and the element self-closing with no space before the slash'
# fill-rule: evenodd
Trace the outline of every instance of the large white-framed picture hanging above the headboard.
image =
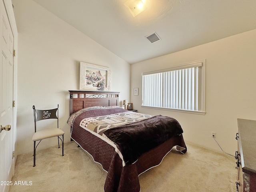
<svg viewBox="0 0 256 192">
<path fill-rule="evenodd" d="M 111 70 L 108 67 L 80 62 L 80 90 L 109 91 Z"/>
</svg>

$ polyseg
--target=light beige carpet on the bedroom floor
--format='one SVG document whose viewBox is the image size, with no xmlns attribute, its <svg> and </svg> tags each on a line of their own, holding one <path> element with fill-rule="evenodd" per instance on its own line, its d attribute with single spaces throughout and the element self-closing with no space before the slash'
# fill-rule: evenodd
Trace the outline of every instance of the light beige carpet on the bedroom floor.
<svg viewBox="0 0 256 192">
<path fill-rule="evenodd" d="M 162 163 L 139 176 L 141 192 L 235 192 L 235 158 L 186 143 Z M 107 173 L 75 142 L 19 155 L 9 192 L 103 192 Z M 18 182 L 27 185 L 14 185 Z M 30 182 L 31 181 L 31 182 Z M 30 182 L 30 183 L 29 183 Z M 32 185 L 30 185 L 32 184 Z"/>
</svg>

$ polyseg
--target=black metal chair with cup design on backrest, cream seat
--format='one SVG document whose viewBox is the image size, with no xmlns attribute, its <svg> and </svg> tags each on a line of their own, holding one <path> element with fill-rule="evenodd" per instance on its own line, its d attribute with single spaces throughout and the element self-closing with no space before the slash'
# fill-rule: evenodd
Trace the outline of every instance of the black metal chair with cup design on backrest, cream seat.
<svg viewBox="0 0 256 192">
<path fill-rule="evenodd" d="M 35 106 L 33 105 L 33 110 L 34 110 L 34 122 L 35 122 L 35 133 L 32 137 L 32 140 L 34 141 L 34 166 L 36 166 L 36 148 L 38 144 L 43 140 L 43 139 L 48 139 L 52 137 L 58 137 L 58 148 L 60 148 L 60 142 L 59 140 L 62 141 L 62 156 L 64 156 L 64 131 L 59 128 L 59 105 L 58 108 L 56 109 L 49 109 L 49 110 L 37 110 Z M 57 113 L 57 114 L 56 114 Z M 49 120 L 49 119 L 57 119 L 57 126 L 56 128 L 48 128 L 36 131 L 36 122 L 40 120 Z M 60 136 L 62 135 L 62 139 Z M 39 141 L 38 144 L 36 145 L 36 141 Z"/>
</svg>

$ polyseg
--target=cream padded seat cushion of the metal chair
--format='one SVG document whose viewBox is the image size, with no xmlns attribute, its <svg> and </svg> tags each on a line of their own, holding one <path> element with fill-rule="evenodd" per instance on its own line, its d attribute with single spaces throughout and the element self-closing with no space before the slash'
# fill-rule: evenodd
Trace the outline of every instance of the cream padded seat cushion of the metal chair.
<svg viewBox="0 0 256 192">
<path fill-rule="evenodd" d="M 35 132 L 33 137 L 32 137 L 32 140 L 33 141 L 38 141 L 38 140 L 42 140 L 42 139 L 47 139 L 47 138 L 51 138 L 51 137 L 60 136 L 60 135 L 63 135 L 63 134 L 64 134 L 64 131 L 62 131 L 59 128 L 45 129 L 45 130 Z"/>
</svg>

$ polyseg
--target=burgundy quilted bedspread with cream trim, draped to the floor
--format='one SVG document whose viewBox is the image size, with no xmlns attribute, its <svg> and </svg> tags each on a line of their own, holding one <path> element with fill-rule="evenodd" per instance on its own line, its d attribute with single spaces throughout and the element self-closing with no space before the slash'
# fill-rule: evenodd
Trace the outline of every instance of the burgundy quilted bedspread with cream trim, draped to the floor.
<svg viewBox="0 0 256 192">
<path fill-rule="evenodd" d="M 109 124 L 107 121 L 110 120 L 110 122 L 116 122 L 118 120 L 114 120 L 112 118 L 107 118 L 106 116 L 110 114 L 114 114 L 113 116 L 116 116 L 118 118 L 117 114 L 120 114 L 120 116 L 123 116 L 123 114 L 130 114 L 130 116 L 136 116 L 136 120 L 131 120 L 132 118 L 127 117 L 126 123 L 123 126 L 136 126 L 138 121 L 139 113 L 132 113 L 130 111 L 124 110 L 118 106 L 111 106 L 111 107 L 90 107 L 90 108 L 84 108 L 82 110 L 79 110 L 72 114 L 70 118 L 68 119 L 68 124 L 72 126 L 72 132 L 71 132 L 71 138 L 76 141 L 86 152 L 88 152 L 94 159 L 95 162 L 98 162 L 102 165 L 102 168 L 108 172 L 108 175 L 106 177 L 106 182 L 104 185 L 104 191 L 105 192 L 139 192 L 140 191 L 140 182 L 138 179 L 138 176 L 145 172 L 146 170 L 157 166 L 162 162 L 162 159 L 170 150 L 172 150 L 173 146 L 180 146 L 180 148 L 183 148 L 182 153 L 186 152 L 186 145 L 183 140 L 182 134 L 177 137 L 173 137 L 169 139 L 168 141 L 164 142 L 163 144 L 160 144 L 156 148 L 142 154 L 138 161 L 134 162 L 134 164 L 124 164 L 124 160 L 122 158 L 122 154 L 118 153 L 118 150 L 116 146 L 110 145 L 108 140 L 104 140 L 105 137 L 100 136 L 94 131 L 88 130 L 88 124 L 92 123 L 86 123 L 86 119 L 95 118 L 96 121 L 98 119 L 96 117 L 98 116 L 104 116 L 104 119 L 106 118 L 106 121 L 103 123 L 107 127 Z M 142 114 L 143 116 L 144 114 Z M 154 116 L 155 117 L 155 116 Z M 154 118 L 153 117 L 153 118 Z M 150 120 L 150 116 L 145 116 L 145 120 L 142 121 L 148 121 Z M 82 120 L 84 122 L 84 128 L 80 126 L 80 122 Z M 128 122 L 134 122 L 134 123 L 128 123 Z M 160 120 L 162 121 L 162 120 Z M 125 122 L 125 120 L 124 120 Z M 98 124 L 98 125 L 103 125 Z M 111 123 L 110 123 L 111 124 Z M 155 123 L 154 123 L 155 124 Z M 114 126 L 114 125 L 112 125 Z M 116 131 L 120 127 L 123 128 L 123 126 L 116 126 L 111 127 L 111 129 L 106 129 L 106 132 L 104 134 L 107 134 L 107 132 Z M 85 128 L 86 127 L 86 128 Z M 90 125 L 89 125 L 90 127 Z M 93 126 L 92 126 L 93 127 Z M 98 126 L 94 126 L 95 129 Z M 101 127 L 101 126 L 100 126 Z M 99 130 L 100 130 L 99 127 Z M 101 127 L 103 128 L 103 126 Z M 97 130 L 97 128 L 96 128 Z M 103 135 L 104 135 L 103 134 Z M 109 134 L 107 134 L 109 135 Z M 109 135 L 110 136 L 110 135 Z M 148 138 L 148 136 L 144 136 L 143 138 Z"/>
</svg>

